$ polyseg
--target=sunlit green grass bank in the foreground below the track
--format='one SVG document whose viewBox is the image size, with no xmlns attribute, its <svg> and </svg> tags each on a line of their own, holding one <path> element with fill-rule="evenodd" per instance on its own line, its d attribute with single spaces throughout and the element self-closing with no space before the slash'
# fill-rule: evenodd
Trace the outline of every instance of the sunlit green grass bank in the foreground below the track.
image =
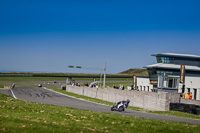
<svg viewBox="0 0 200 133">
<path fill-rule="evenodd" d="M 31 103 L 0 94 L 0 132 L 198 133 L 199 131 L 200 125 Z"/>
</svg>

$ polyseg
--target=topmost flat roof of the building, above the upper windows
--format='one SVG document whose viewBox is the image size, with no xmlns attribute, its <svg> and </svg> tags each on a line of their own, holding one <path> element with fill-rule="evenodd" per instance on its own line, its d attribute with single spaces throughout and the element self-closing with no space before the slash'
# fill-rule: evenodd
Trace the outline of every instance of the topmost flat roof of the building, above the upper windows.
<svg viewBox="0 0 200 133">
<path fill-rule="evenodd" d="M 152 54 L 152 56 L 168 56 L 168 57 L 182 57 L 182 58 L 200 59 L 200 56 L 198 56 L 198 55 L 192 55 L 192 54 L 177 54 L 177 53 Z"/>
</svg>

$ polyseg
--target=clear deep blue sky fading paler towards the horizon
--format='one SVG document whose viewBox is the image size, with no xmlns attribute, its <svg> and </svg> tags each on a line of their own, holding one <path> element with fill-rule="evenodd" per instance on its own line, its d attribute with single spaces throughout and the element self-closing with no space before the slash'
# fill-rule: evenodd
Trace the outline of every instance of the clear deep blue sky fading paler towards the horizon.
<svg viewBox="0 0 200 133">
<path fill-rule="evenodd" d="M 200 55 L 198 0 L 1 0 L 0 71 L 108 73 Z"/>
</svg>

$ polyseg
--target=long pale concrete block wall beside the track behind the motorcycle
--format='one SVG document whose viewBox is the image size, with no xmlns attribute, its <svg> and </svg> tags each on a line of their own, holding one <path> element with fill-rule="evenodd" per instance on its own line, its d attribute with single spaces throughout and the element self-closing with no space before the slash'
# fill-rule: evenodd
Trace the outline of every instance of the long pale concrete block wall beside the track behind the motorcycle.
<svg viewBox="0 0 200 133">
<path fill-rule="evenodd" d="M 169 93 L 118 90 L 112 88 L 89 88 L 66 86 L 66 91 L 84 95 L 92 98 L 102 99 L 109 102 L 118 102 L 129 99 L 130 106 L 140 107 L 148 110 L 168 111 L 170 107 Z"/>
</svg>

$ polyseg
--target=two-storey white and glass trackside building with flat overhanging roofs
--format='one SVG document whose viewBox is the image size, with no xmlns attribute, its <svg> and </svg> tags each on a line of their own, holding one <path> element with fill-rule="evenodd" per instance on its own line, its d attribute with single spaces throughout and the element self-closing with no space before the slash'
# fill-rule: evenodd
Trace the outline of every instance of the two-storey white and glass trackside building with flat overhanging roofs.
<svg viewBox="0 0 200 133">
<path fill-rule="evenodd" d="M 200 100 L 200 56 L 189 54 L 153 54 L 157 64 L 148 65 L 149 91 L 172 93 L 192 92 L 192 99 Z M 180 67 L 185 66 L 185 82 L 180 83 Z M 138 79 L 138 88 L 146 79 Z"/>
</svg>

